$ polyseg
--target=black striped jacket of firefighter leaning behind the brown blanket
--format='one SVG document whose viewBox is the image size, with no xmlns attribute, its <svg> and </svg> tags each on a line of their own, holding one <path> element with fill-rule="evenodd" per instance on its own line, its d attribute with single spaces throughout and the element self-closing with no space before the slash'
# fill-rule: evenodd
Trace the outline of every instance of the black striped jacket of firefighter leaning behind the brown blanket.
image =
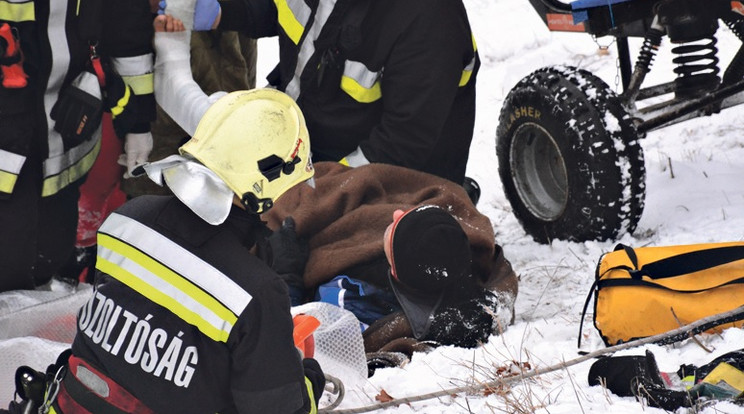
<svg viewBox="0 0 744 414">
<path fill-rule="evenodd" d="M 220 5 L 220 28 L 279 36 L 269 81 L 302 108 L 316 161 L 360 149 L 366 161 L 462 183 L 480 63 L 461 0 Z"/>
</svg>

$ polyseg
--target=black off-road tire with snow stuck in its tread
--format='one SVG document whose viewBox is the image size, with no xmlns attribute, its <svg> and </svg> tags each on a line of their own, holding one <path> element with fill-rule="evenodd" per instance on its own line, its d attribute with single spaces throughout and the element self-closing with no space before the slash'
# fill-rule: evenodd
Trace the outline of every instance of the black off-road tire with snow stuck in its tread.
<svg viewBox="0 0 744 414">
<path fill-rule="evenodd" d="M 553 239 L 617 239 L 643 212 L 646 169 L 618 96 L 568 66 L 539 69 L 506 97 L 496 133 L 504 192 L 525 231 Z"/>
</svg>

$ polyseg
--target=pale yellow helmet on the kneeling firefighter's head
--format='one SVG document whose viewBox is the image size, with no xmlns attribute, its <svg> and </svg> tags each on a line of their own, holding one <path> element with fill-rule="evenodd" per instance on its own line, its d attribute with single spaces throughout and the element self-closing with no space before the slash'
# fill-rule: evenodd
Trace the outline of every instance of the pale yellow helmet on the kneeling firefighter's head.
<svg viewBox="0 0 744 414">
<path fill-rule="evenodd" d="M 305 118 L 295 101 L 276 89 L 220 98 L 179 152 L 217 174 L 255 213 L 267 211 L 314 174 Z"/>
</svg>

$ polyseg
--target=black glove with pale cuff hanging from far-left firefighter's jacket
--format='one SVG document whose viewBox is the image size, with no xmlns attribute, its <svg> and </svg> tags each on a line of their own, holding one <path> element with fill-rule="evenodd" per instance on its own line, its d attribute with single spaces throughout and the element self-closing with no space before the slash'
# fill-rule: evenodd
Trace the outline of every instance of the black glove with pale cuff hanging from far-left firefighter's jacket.
<svg viewBox="0 0 744 414">
<path fill-rule="evenodd" d="M 78 75 L 60 93 L 50 115 L 66 150 L 91 139 L 103 116 L 103 97 L 96 75 L 89 71 Z"/>
</svg>

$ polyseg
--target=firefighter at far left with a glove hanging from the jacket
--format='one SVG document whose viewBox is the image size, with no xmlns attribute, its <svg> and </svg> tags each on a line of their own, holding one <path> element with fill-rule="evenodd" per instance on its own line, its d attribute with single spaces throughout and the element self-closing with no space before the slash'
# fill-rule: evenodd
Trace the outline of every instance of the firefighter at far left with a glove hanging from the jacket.
<svg viewBox="0 0 744 414">
<path fill-rule="evenodd" d="M 130 168 L 154 117 L 148 0 L 0 1 L 0 291 L 69 258 L 108 111 Z"/>
</svg>

